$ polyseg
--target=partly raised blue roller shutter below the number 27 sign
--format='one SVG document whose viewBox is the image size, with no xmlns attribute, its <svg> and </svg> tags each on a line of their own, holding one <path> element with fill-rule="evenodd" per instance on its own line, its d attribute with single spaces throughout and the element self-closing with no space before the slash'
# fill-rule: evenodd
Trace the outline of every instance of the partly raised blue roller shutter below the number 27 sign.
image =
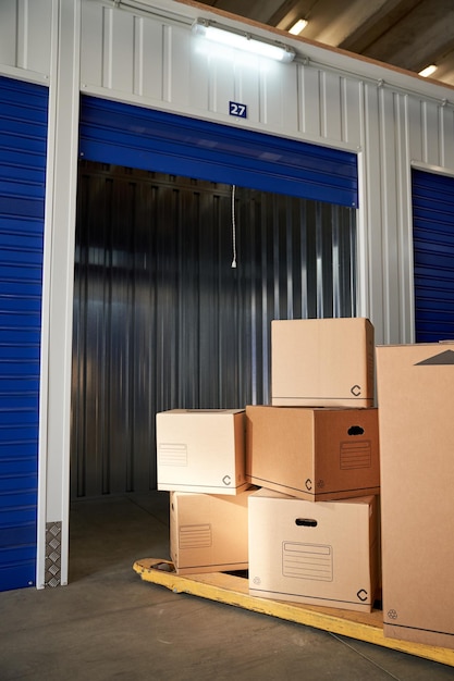
<svg viewBox="0 0 454 681">
<path fill-rule="evenodd" d="M 356 154 L 82 97 L 81 157 L 357 207 Z"/>
</svg>

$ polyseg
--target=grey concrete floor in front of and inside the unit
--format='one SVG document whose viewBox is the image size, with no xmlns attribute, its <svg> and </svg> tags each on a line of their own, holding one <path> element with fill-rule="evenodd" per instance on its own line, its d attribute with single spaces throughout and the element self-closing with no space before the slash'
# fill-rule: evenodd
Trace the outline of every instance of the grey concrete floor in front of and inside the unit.
<svg viewBox="0 0 454 681">
<path fill-rule="evenodd" d="M 169 558 L 168 494 L 77 502 L 70 584 L 0 593 L 0 679 L 441 681 L 454 668 L 140 580 Z"/>
</svg>

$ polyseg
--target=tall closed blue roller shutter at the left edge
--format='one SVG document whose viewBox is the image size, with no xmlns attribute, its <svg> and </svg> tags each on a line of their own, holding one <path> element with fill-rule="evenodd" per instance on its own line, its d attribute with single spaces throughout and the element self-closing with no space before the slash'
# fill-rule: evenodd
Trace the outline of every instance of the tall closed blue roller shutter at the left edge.
<svg viewBox="0 0 454 681">
<path fill-rule="evenodd" d="M 0 590 L 36 572 L 47 102 L 0 78 Z"/>
</svg>

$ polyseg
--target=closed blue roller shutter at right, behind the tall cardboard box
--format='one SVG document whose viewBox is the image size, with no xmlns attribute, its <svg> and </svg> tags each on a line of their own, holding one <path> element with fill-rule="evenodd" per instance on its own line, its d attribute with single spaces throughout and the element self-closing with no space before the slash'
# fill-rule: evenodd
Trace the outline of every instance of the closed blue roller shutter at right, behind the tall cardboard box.
<svg viewBox="0 0 454 681">
<path fill-rule="evenodd" d="M 418 343 L 454 338 L 454 177 L 413 171 Z"/>
</svg>

